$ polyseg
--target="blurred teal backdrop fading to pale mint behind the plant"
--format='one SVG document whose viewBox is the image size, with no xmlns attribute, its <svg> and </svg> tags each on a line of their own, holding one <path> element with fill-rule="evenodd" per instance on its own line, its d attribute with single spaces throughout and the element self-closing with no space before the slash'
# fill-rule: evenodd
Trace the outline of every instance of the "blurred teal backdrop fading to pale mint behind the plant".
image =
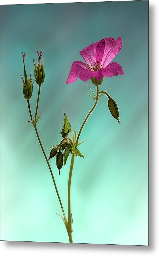
<svg viewBox="0 0 159 256">
<path fill-rule="evenodd" d="M 45 50 L 45 82 L 38 130 L 44 148 L 62 139 L 63 111 L 77 131 L 94 101 L 78 79 L 66 85 L 79 52 L 105 37 L 121 36 L 114 58 L 124 75 L 104 78 L 120 111 L 118 125 L 105 96 L 87 121 L 71 186 L 75 243 L 148 245 L 148 1 L 1 6 L 1 239 L 68 242 L 60 205 L 23 97 L 36 50 Z M 94 89 L 95 86 L 88 81 Z M 31 108 L 35 111 L 38 86 Z M 61 175 L 50 163 L 67 212 L 70 158 Z"/>
</svg>

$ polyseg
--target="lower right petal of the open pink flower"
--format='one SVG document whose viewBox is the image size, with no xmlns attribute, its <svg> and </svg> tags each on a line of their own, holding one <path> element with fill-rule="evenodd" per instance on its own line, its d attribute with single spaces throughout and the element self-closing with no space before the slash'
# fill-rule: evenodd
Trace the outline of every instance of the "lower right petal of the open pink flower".
<svg viewBox="0 0 159 256">
<path fill-rule="evenodd" d="M 100 69 L 101 74 L 105 77 L 113 77 L 118 75 L 123 75 L 123 69 L 117 62 L 111 62 L 107 67 Z"/>
</svg>

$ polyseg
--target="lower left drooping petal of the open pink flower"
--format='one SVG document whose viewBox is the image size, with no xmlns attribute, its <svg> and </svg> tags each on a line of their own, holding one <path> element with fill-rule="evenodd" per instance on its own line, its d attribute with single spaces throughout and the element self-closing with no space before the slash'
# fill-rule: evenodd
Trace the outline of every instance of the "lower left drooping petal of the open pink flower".
<svg viewBox="0 0 159 256">
<path fill-rule="evenodd" d="M 74 61 L 72 64 L 68 79 L 66 81 L 66 84 L 74 83 L 78 77 L 83 81 L 87 81 L 91 77 L 98 78 L 101 76 L 98 73 L 99 73 L 98 71 L 95 72 L 95 71 L 88 69 L 87 65 L 85 65 L 85 63 L 83 63 L 82 61 L 78 61 L 78 60 Z"/>
</svg>

